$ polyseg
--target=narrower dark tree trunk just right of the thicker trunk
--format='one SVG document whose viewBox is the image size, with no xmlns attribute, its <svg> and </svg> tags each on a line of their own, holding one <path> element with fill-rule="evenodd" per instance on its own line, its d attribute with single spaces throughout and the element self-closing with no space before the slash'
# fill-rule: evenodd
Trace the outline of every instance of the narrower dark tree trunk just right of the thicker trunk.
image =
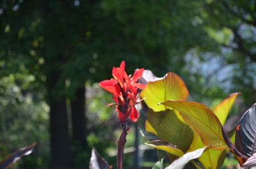
<svg viewBox="0 0 256 169">
<path fill-rule="evenodd" d="M 85 87 L 77 88 L 75 98 L 71 100 L 73 143 L 86 145 Z"/>
</svg>

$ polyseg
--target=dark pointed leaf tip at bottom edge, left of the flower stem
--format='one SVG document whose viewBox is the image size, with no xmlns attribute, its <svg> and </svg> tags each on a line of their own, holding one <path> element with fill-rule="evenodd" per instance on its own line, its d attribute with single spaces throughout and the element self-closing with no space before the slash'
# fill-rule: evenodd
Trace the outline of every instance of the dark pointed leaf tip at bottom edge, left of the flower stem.
<svg viewBox="0 0 256 169">
<path fill-rule="evenodd" d="M 109 164 L 100 155 L 98 155 L 96 149 L 92 149 L 92 157 L 90 157 L 90 169 L 109 169 Z"/>
</svg>

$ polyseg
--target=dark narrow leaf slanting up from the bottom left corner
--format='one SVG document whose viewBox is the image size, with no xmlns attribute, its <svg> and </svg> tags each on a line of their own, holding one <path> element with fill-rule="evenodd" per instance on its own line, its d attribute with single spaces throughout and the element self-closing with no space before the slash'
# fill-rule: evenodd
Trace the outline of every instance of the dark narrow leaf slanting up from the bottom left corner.
<svg viewBox="0 0 256 169">
<path fill-rule="evenodd" d="M 17 160 L 22 158 L 24 155 L 28 155 L 28 154 L 32 153 L 35 145 L 36 145 L 36 143 L 33 143 L 30 146 L 24 147 L 18 151 L 15 151 L 12 154 L 7 155 L 0 162 L 0 168 L 1 169 L 9 168 L 11 165 L 13 165 L 13 163 L 15 163 Z"/>
</svg>

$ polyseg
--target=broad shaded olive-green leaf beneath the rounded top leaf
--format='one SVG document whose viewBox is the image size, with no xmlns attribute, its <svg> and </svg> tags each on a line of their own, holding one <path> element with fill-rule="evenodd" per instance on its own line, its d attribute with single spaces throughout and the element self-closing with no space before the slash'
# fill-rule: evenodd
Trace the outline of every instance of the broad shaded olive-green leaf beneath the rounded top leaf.
<svg viewBox="0 0 256 169">
<path fill-rule="evenodd" d="M 194 138 L 195 130 L 185 123 L 179 111 L 167 109 L 147 113 L 146 130 L 158 136 L 161 140 L 176 145 L 177 149 L 186 152 Z"/>
</svg>

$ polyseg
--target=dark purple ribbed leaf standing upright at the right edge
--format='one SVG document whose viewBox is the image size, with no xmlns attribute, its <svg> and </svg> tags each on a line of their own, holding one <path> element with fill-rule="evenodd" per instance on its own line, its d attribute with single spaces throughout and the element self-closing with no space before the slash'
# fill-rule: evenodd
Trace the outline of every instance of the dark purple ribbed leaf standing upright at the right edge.
<svg viewBox="0 0 256 169">
<path fill-rule="evenodd" d="M 236 130 L 236 147 L 240 151 L 243 150 L 247 157 L 251 157 L 255 153 L 253 147 L 256 138 L 256 104 L 245 112 L 238 125 L 240 125 L 240 128 L 239 131 Z M 242 142 L 239 141 L 240 136 Z"/>
</svg>

